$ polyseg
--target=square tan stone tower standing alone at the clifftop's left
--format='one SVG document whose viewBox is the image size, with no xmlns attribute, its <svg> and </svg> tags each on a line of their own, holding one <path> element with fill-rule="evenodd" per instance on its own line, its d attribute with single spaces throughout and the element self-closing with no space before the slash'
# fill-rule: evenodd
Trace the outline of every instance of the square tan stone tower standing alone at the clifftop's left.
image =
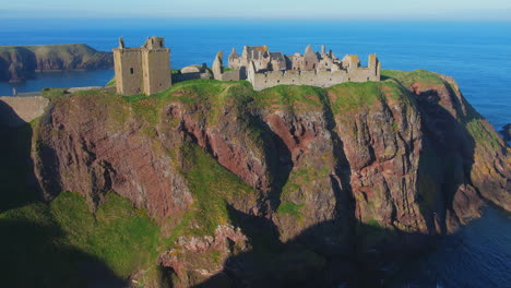
<svg viewBox="0 0 511 288">
<path fill-rule="evenodd" d="M 164 38 L 150 37 L 140 48 L 126 48 L 120 38 L 112 50 L 118 94 L 151 95 L 170 87 L 170 49 Z"/>
</svg>

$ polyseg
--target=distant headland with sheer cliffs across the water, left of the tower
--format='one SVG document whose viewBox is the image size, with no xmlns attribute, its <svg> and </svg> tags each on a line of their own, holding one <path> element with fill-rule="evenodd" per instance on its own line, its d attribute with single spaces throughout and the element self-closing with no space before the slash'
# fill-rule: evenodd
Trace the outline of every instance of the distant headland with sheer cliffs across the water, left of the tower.
<svg viewBox="0 0 511 288">
<path fill-rule="evenodd" d="M 43 71 L 112 67 L 111 52 L 96 51 L 85 44 L 0 47 L 0 81 L 24 81 Z"/>
</svg>

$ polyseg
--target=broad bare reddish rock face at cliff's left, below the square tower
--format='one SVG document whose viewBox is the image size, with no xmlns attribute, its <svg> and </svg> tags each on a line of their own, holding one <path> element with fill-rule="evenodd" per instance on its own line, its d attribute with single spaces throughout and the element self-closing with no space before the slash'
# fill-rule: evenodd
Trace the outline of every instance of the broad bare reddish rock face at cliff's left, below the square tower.
<svg viewBox="0 0 511 288">
<path fill-rule="evenodd" d="M 170 157 L 134 119 L 114 119 L 129 107 L 108 105 L 72 97 L 41 120 L 34 159 L 45 199 L 73 191 L 95 206 L 112 190 L 155 218 L 186 211 L 191 193 Z"/>
</svg>

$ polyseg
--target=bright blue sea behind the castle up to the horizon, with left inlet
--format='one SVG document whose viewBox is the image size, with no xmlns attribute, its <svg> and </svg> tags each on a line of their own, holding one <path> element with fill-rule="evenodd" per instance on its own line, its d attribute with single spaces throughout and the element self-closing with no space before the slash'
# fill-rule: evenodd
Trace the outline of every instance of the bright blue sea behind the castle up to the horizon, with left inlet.
<svg viewBox="0 0 511 288">
<path fill-rule="evenodd" d="M 35 24 L 37 23 L 37 25 Z M 0 45 L 85 43 L 111 50 L 124 37 L 128 46 L 141 46 L 148 36 L 163 36 L 171 48 L 171 64 L 213 62 L 233 47 L 270 46 L 285 53 L 317 50 L 326 45 L 338 57 L 357 53 L 363 63 L 376 52 L 383 69 L 427 69 L 453 76 L 465 97 L 497 128 L 511 122 L 511 22 L 312 22 L 298 21 L 191 21 L 191 20 L 0 20 Z M 19 92 L 47 86 L 100 85 L 114 73 L 66 74 L 27 81 Z M 75 81 L 75 82 L 74 82 Z M 0 95 L 11 95 L 8 83 Z"/>
</svg>

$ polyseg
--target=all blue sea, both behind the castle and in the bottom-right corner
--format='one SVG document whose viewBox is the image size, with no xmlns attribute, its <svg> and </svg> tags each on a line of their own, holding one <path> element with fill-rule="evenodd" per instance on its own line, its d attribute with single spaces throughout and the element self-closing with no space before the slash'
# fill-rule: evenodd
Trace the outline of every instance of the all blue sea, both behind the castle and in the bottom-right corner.
<svg viewBox="0 0 511 288">
<path fill-rule="evenodd" d="M 427 69 L 453 76 L 468 101 L 497 130 L 511 123 L 511 22 L 400 22 L 290 20 L 0 20 L 0 45 L 85 43 L 111 50 L 118 37 L 141 46 L 163 36 L 173 68 L 211 64 L 219 50 L 269 45 L 270 50 L 302 52 L 326 45 L 338 57 L 359 55 L 363 64 L 377 53 L 383 69 Z M 0 95 L 45 87 L 105 85 L 114 72 L 41 73 L 19 84 L 0 83 Z M 436 249 L 411 263 L 396 286 L 510 287 L 511 219 L 489 208 L 485 217 L 440 240 Z"/>
</svg>

